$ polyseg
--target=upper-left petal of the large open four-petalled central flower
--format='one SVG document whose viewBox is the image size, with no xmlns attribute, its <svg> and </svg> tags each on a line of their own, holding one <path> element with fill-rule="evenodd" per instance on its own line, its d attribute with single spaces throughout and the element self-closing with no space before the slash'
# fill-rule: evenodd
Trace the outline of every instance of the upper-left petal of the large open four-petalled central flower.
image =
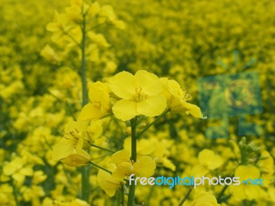
<svg viewBox="0 0 275 206">
<path fill-rule="evenodd" d="M 119 98 L 131 100 L 135 96 L 135 78 L 133 74 L 122 71 L 110 78 L 109 87 Z"/>
</svg>

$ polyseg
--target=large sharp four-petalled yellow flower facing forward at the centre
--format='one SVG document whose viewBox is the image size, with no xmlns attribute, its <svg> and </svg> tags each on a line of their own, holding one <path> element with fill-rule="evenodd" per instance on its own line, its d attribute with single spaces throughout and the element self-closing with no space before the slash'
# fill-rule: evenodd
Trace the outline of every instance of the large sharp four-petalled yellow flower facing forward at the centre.
<svg viewBox="0 0 275 206">
<path fill-rule="evenodd" d="M 122 71 L 109 80 L 110 88 L 118 100 L 113 105 L 113 114 L 123 121 L 136 115 L 154 117 L 166 108 L 166 99 L 162 92 L 162 84 L 153 73 L 140 70 L 133 74 Z"/>
</svg>

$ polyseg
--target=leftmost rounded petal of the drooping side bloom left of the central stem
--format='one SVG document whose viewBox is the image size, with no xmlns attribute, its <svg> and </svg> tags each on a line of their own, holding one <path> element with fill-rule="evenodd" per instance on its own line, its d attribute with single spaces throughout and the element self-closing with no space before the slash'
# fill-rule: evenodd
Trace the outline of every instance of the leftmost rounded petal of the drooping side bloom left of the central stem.
<svg viewBox="0 0 275 206">
<path fill-rule="evenodd" d="M 72 141 L 61 139 L 53 148 L 52 159 L 59 160 L 68 157 L 74 149 Z"/>
</svg>

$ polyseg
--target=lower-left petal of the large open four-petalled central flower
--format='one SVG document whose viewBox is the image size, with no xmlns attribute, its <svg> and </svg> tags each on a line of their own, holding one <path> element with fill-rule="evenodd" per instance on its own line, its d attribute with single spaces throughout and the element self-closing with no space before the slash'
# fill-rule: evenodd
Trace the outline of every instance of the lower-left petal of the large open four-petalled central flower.
<svg viewBox="0 0 275 206">
<path fill-rule="evenodd" d="M 122 121 L 133 119 L 137 113 L 137 103 L 129 100 L 119 100 L 113 105 L 113 114 Z"/>
</svg>

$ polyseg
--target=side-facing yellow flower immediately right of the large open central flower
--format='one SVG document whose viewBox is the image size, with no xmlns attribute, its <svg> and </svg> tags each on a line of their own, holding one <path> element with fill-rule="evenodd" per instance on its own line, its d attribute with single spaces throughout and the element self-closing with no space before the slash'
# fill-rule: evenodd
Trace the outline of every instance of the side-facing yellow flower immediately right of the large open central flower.
<svg viewBox="0 0 275 206">
<path fill-rule="evenodd" d="M 203 118 L 199 106 L 186 102 L 192 97 L 186 91 L 182 91 L 179 83 L 175 80 L 168 80 L 168 78 L 160 78 L 160 80 L 164 87 L 163 93 L 167 99 L 167 107 L 170 108 L 171 113 L 186 112 L 194 117 Z"/>
</svg>

